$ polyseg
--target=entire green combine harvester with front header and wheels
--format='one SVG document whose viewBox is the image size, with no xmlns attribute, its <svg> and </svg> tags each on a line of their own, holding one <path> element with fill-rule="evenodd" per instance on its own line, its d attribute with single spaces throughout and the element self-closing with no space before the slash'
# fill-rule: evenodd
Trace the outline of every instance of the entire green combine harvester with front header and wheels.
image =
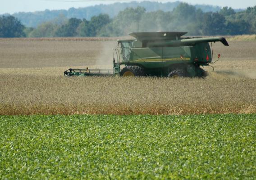
<svg viewBox="0 0 256 180">
<path fill-rule="evenodd" d="M 224 37 L 182 37 L 187 32 L 133 32 L 133 39 L 117 40 L 113 69 L 68 69 L 65 76 L 206 76 L 213 54 L 209 42 Z M 218 56 L 218 58 L 220 55 Z M 219 59 L 218 59 L 219 60 Z"/>
</svg>

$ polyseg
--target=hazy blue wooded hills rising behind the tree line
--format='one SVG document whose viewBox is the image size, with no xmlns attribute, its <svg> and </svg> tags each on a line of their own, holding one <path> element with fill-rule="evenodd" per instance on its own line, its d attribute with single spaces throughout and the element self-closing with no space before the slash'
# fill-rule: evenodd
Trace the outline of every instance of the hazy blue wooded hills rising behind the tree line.
<svg viewBox="0 0 256 180">
<path fill-rule="evenodd" d="M 37 27 L 41 23 L 46 21 L 52 21 L 57 18 L 60 14 L 64 15 L 66 18 L 78 18 L 90 20 L 93 16 L 98 16 L 99 14 L 108 14 L 110 18 L 114 18 L 119 14 L 120 11 L 128 7 L 141 6 L 146 8 L 147 12 L 163 10 L 164 12 L 172 11 L 178 6 L 180 2 L 152 2 L 152 1 L 140 1 L 140 2 L 126 2 L 126 3 L 114 3 L 114 4 L 99 4 L 95 6 L 89 6 L 85 8 L 70 8 L 68 10 L 45 10 L 37 11 L 34 13 L 16 13 L 13 14 L 16 18 L 20 19 L 21 22 L 27 27 Z M 210 6 L 205 4 L 196 4 L 197 9 L 201 8 L 204 12 L 217 12 L 221 9 L 218 6 Z"/>
</svg>

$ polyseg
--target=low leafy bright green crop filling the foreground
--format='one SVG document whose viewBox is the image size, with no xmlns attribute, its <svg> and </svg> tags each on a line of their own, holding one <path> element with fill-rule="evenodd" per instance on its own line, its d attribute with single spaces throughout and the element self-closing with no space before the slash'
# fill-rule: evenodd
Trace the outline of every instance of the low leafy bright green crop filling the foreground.
<svg viewBox="0 0 256 180">
<path fill-rule="evenodd" d="M 1 179 L 255 179 L 256 115 L 0 116 Z"/>
</svg>

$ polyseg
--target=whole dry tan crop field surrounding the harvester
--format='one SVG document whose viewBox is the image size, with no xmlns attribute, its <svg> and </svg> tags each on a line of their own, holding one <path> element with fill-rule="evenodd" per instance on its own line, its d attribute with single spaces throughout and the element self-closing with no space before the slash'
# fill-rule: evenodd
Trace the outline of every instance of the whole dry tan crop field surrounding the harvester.
<svg viewBox="0 0 256 180">
<path fill-rule="evenodd" d="M 221 58 L 204 79 L 63 76 L 70 67 L 111 69 L 116 44 L 0 39 L 0 115 L 256 113 L 255 41 L 213 43 Z"/>
</svg>

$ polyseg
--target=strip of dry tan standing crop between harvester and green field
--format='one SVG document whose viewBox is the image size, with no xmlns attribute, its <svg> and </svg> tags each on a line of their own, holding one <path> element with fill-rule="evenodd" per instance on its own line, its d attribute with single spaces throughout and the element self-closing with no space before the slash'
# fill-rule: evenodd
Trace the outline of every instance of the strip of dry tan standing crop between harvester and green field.
<svg viewBox="0 0 256 180">
<path fill-rule="evenodd" d="M 256 113 L 254 79 L 1 78 L 1 115 Z"/>
</svg>

